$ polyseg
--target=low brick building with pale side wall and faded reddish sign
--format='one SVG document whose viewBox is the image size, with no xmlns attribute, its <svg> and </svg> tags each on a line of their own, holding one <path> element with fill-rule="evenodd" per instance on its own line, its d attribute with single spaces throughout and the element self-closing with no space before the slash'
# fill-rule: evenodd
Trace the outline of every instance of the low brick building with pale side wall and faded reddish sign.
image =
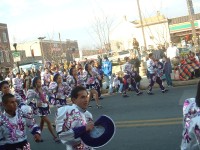
<svg viewBox="0 0 200 150">
<path fill-rule="evenodd" d="M 61 63 L 64 61 L 73 61 L 79 57 L 78 42 L 74 40 L 53 41 L 53 40 L 36 40 L 17 44 L 17 51 L 25 55 L 20 60 L 20 64 L 28 64 L 33 61 L 50 61 Z"/>
</svg>

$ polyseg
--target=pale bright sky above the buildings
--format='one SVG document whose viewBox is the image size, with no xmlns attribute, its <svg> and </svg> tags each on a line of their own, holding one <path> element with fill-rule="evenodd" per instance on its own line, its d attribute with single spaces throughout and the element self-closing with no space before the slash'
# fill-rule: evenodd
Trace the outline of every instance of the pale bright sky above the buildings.
<svg viewBox="0 0 200 150">
<path fill-rule="evenodd" d="M 193 0 L 195 13 L 200 1 Z M 188 15 L 186 0 L 140 0 L 143 17 L 160 11 L 168 18 Z M 8 26 L 10 42 L 77 40 L 79 48 L 95 47 L 93 26 L 102 16 L 117 24 L 124 16 L 138 20 L 136 0 L 0 0 L 0 23 Z"/>
</svg>

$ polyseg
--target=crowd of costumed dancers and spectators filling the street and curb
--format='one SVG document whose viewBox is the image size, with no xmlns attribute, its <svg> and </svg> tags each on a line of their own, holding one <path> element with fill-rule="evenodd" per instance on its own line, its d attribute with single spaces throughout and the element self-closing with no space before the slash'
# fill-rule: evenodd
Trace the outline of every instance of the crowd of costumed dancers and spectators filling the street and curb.
<svg viewBox="0 0 200 150">
<path fill-rule="evenodd" d="M 46 62 L 40 69 L 32 68 L 30 71 L 21 69 L 16 74 L 11 71 L 5 79 L 1 78 L 0 149 L 29 150 L 25 125 L 31 130 L 35 141 L 42 142 L 41 133 L 46 123 L 55 142 L 62 141 L 70 149 L 92 150 L 80 139 L 84 132 L 94 128 L 92 115 L 86 111 L 87 107 L 94 107 L 90 101 L 95 100 L 95 107 L 103 109 L 100 101 L 103 99 L 103 87 L 108 90 L 108 94 L 117 92 L 124 98 L 129 97 L 128 91 L 134 91 L 137 96 L 143 94 L 140 90 L 142 77 L 139 72 L 141 55 L 136 39 L 133 46 L 131 56 L 124 58 L 120 72 L 113 73 L 112 62 L 104 55 L 103 58 L 98 56 L 93 60 L 86 58 L 83 62 L 72 61 L 67 66 Z M 172 67 L 177 69 L 177 66 L 172 66 L 171 61 L 178 53 L 173 51 L 171 54 L 170 50 L 168 49 L 166 53 L 148 54 L 146 61 L 148 95 L 154 94 L 152 89 L 155 82 L 162 93 L 168 91 L 164 82 L 168 87 L 173 86 Z M 199 61 L 194 53 L 179 58 L 181 65 L 178 69 L 181 79 L 199 75 Z M 69 105 L 71 103 L 72 106 Z M 56 132 L 48 117 L 50 105 L 57 110 Z M 34 116 L 40 116 L 39 125 L 35 123 Z"/>
</svg>

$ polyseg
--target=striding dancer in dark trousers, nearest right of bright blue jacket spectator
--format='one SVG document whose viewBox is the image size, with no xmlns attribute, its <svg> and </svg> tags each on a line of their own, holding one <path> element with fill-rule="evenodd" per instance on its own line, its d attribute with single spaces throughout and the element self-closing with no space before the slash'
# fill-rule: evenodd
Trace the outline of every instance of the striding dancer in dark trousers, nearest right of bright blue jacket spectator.
<svg viewBox="0 0 200 150">
<path fill-rule="evenodd" d="M 131 85 L 134 89 L 134 91 L 136 92 L 137 95 L 142 94 L 142 92 L 138 89 L 137 84 L 135 82 L 135 73 L 133 71 L 133 66 L 132 64 L 129 62 L 130 59 L 129 57 L 125 57 L 125 61 L 126 63 L 123 65 L 123 72 L 124 72 L 124 77 L 123 77 L 123 81 L 124 81 L 124 85 L 123 85 L 123 93 L 122 96 L 123 97 L 128 97 L 127 95 L 127 90 L 129 88 L 129 85 Z"/>
</svg>

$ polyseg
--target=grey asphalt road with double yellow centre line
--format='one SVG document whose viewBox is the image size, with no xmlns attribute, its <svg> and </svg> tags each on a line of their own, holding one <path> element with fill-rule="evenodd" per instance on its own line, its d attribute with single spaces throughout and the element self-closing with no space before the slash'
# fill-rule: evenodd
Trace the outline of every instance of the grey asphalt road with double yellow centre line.
<svg viewBox="0 0 200 150">
<path fill-rule="evenodd" d="M 106 96 L 101 100 L 102 109 L 95 107 L 89 111 L 94 120 L 100 115 L 110 116 L 116 123 L 113 139 L 99 150 L 179 150 L 182 133 L 182 104 L 184 99 L 194 97 L 196 86 L 174 87 L 167 93 L 153 90 L 155 95 L 130 97 L 121 95 Z M 54 110 L 50 116 L 53 121 Z M 31 135 L 29 141 L 32 150 L 64 150 L 63 144 L 56 144 L 45 129 L 42 133 L 44 142 L 34 143 Z"/>
</svg>

